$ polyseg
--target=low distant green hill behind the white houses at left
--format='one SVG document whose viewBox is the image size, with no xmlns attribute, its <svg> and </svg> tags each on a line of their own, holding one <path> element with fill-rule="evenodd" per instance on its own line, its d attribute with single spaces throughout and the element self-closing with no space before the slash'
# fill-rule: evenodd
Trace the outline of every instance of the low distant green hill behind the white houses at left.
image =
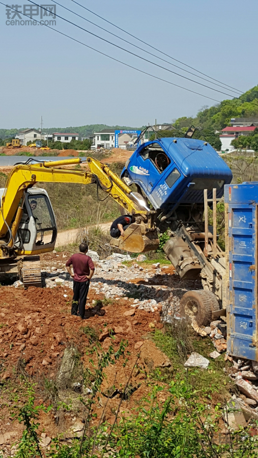
<svg viewBox="0 0 258 458">
<path fill-rule="evenodd" d="M 32 126 L 27 126 L 27 127 L 22 127 L 20 129 L 0 129 L 0 137 L 1 138 L 7 138 L 7 137 L 12 137 L 16 135 L 17 132 L 20 130 L 28 129 L 31 128 Z M 39 127 L 35 127 L 35 129 L 39 129 Z M 130 130 L 130 129 L 136 129 L 135 127 L 129 127 L 129 126 L 107 126 L 106 124 L 87 124 L 86 126 L 77 126 L 77 127 L 49 127 L 46 129 L 45 127 L 43 128 L 43 132 L 46 133 L 53 133 L 53 132 L 76 132 L 80 136 L 84 137 L 87 135 L 92 135 L 93 132 L 98 132 L 103 129 L 121 129 L 121 130 Z M 137 128 L 138 129 L 138 128 Z"/>
</svg>

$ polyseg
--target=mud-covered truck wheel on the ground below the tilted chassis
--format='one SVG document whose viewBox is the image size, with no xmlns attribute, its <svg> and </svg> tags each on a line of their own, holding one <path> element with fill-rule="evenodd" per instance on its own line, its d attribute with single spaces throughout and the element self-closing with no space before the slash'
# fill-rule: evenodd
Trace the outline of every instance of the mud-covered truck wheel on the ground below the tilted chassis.
<svg viewBox="0 0 258 458">
<path fill-rule="evenodd" d="M 187 291 L 180 301 L 181 316 L 194 319 L 199 326 L 208 326 L 216 310 L 219 303 L 211 291 Z"/>
</svg>

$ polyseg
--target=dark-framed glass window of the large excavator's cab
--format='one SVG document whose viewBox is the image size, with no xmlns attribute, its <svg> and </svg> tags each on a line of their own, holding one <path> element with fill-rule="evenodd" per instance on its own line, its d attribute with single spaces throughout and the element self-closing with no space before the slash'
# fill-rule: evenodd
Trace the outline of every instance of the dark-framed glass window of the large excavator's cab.
<svg viewBox="0 0 258 458">
<path fill-rule="evenodd" d="M 53 212 L 46 195 L 30 195 L 28 203 L 36 222 L 37 231 L 55 226 Z"/>
</svg>

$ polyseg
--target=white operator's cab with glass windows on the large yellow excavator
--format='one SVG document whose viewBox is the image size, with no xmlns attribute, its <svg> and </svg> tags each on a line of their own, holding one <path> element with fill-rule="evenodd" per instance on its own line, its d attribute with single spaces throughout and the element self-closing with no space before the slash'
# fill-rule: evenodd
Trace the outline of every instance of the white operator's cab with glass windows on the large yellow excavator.
<svg viewBox="0 0 258 458">
<path fill-rule="evenodd" d="M 45 189 L 28 189 L 15 245 L 17 254 L 52 251 L 57 234 L 53 209 Z"/>
</svg>

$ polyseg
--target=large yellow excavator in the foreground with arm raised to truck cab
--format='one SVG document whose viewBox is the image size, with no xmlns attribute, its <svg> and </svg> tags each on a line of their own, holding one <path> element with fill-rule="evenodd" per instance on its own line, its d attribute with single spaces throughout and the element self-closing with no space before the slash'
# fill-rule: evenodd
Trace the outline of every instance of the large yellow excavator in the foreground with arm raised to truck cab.
<svg viewBox="0 0 258 458">
<path fill-rule="evenodd" d="M 44 189 L 35 187 L 37 182 L 97 185 L 126 213 L 135 216 L 119 248 L 144 252 L 158 247 L 155 212 L 146 206 L 144 199 L 132 192 L 107 165 L 92 157 L 87 158 L 90 171 L 62 168 L 82 162 L 74 158 L 35 163 L 30 158 L 12 169 L 5 188 L 0 189 L 0 272 L 18 273 L 24 288 L 42 286 L 39 255 L 54 249 L 57 235 L 50 199 Z"/>
</svg>

